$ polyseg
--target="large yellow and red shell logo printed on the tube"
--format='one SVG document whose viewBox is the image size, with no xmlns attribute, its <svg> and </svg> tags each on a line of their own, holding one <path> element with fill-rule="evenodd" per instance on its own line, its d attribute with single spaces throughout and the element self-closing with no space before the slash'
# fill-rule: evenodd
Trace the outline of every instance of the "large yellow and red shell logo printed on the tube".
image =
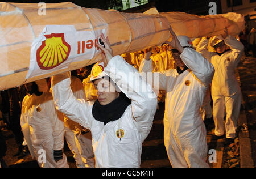
<svg viewBox="0 0 256 179">
<path fill-rule="evenodd" d="M 71 46 L 65 41 L 64 33 L 44 35 L 47 39 L 36 51 L 36 61 L 40 69 L 49 70 L 68 59 Z"/>
</svg>

